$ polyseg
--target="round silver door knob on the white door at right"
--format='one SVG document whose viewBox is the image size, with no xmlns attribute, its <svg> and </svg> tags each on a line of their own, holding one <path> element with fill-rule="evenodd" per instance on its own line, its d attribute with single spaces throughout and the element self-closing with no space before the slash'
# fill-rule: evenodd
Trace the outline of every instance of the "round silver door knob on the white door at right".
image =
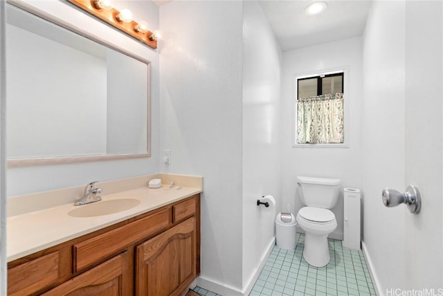
<svg viewBox="0 0 443 296">
<path fill-rule="evenodd" d="M 400 193 L 394 189 L 383 189 L 381 199 L 386 207 L 396 207 L 399 204 L 406 204 L 409 211 L 418 214 L 422 208 L 422 198 L 417 186 L 409 185 L 405 193 Z"/>
</svg>

